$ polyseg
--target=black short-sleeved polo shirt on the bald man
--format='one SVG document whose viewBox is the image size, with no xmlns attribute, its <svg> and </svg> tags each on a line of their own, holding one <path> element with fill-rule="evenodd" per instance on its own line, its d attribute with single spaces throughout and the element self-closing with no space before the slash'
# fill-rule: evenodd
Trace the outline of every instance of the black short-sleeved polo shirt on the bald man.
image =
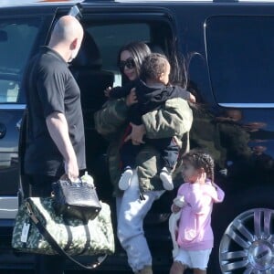
<svg viewBox="0 0 274 274">
<path fill-rule="evenodd" d="M 65 115 L 79 169 L 86 168 L 80 90 L 67 62 L 56 51 L 42 47 L 26 68 L 22 89 L 28 109 L 25 173 L 64 174 L 63 156 L 47 131 L 46 118 L 55 111 Z"/>
</svg>

